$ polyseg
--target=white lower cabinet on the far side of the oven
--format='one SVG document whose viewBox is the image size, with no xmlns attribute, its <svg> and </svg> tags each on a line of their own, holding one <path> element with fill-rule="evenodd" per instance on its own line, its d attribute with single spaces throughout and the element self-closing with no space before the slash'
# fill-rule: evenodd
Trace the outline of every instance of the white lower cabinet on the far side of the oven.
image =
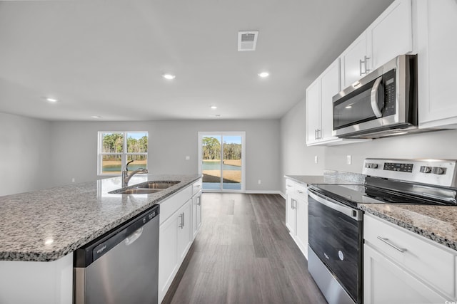
<svg viewBox="0 0 457 304">
<path fill-rule="evenodd" d="M 306 186 L 291 179 L 286 179 L 286 226 L 308 258 L 308 192 Z"/>
</svg>

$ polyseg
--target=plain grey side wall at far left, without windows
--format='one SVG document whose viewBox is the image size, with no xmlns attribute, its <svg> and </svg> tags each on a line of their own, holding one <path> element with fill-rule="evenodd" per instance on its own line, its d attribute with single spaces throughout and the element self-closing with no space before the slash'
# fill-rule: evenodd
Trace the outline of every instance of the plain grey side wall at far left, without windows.
<svg viewBox="0 0 457 304">
<path fill-rule="evenodd" d="M 0 113 L 0 196 L 51 187 L 51 123 Z"/>
</svg>

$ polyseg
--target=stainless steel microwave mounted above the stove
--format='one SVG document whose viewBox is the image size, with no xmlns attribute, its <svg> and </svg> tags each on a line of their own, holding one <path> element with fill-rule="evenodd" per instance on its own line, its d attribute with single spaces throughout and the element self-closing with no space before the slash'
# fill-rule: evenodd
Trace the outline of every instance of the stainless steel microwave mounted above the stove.
<svg viewBox="0 0 457 304">
<path fill-rule="evenodd" d="M 333 135 L 378 138 L 417 132 L 417 111 L 416 55 L 401 55 L 333 96 Z"/>
</svg>

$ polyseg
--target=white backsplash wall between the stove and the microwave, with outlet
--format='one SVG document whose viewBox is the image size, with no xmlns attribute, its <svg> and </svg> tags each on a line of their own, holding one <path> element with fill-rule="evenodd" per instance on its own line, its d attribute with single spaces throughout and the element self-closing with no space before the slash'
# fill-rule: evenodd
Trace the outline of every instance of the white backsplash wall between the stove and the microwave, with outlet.
<svg viewBox="0 0 457 304">
<path fill-rule="evenodd" d="M 352 156 L 352 164 L 346 164 L 346 155 Z M 326 169 L 354 173 L 362 172 L 363 159 L 366 157 L 457 159 L 457 130 L 326 147 L 325 157 Z"/>
</svg>

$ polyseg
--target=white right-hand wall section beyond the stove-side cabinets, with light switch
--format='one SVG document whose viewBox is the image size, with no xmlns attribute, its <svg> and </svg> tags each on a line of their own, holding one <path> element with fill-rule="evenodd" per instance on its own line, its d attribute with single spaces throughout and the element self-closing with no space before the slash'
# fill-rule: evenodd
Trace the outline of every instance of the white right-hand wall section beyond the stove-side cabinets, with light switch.
<svg viewBox="0 0 457 304">
<path fill-rule="evenodd" d="M 283 175 L 322 175 L 324 148 L 306 146 L 306 102 L 302 100 L 281 118 L 281 191 Z M 318 163 L 314 162 L 314 156 Z"/>
</svg>

